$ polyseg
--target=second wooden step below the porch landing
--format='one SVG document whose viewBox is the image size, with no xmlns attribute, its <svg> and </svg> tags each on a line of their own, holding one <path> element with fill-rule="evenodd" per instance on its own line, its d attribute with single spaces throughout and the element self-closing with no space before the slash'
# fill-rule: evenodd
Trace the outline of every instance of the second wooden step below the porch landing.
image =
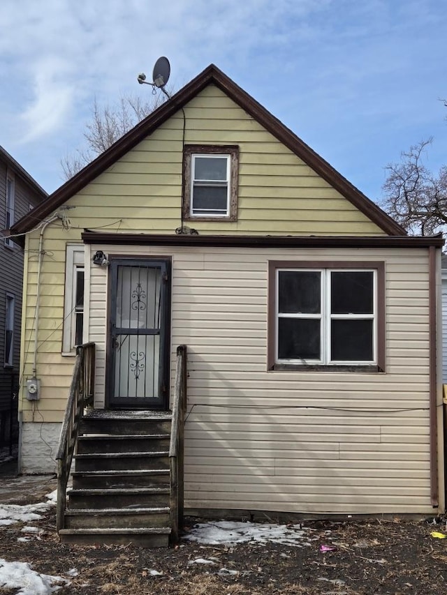
<svg viewBox="0 0 447 595">
<path fill-rule="evenodd" d="M 169 451 L 133 453 L 80 453 L 75 455 L 75 471 L 122 471 L 169 469 Z"/>
</svg>

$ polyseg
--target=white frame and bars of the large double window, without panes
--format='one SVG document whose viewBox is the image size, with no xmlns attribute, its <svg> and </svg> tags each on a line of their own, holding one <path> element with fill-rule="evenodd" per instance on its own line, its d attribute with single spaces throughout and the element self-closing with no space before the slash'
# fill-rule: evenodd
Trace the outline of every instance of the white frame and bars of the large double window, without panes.
<svg viewBox="0 0 447 595">
<path fill-rule="evenodd" d="M 321 312 L 316 314 L 300 313 L 300 312 L 279 312 L 279 273 L 284 271 L 291 272 L 318 272 L 320 273 L 320 291 L 321 291 Z M 331 295 L 331 273 L 373 273 L 373 311 L 372 314 L 332 314 L 330 311 L 330 295 Z M 302 319 L 320 319 L 320 359 L 279 359 L 278 357 L 278 334 L 279 334 L 279 318 L 302 318 Z M 279 364 L 293 364 L 294 366 L 372 366 L 377 363 L 377 271 L 376 269 L 356 269 L 353 268 L 314 268 L 314 269 L 300 269 L 300 268 L 278 268 L 275 276 L 275 337 L 274 337 L 274 361 Z M 334 319 L 344 320 L 371 320 L 372 324 L 372 354 L 371 360 L 332 360 L 330 358 L 330 345 L 331 345 L 331 321 Z"/>
</svg>

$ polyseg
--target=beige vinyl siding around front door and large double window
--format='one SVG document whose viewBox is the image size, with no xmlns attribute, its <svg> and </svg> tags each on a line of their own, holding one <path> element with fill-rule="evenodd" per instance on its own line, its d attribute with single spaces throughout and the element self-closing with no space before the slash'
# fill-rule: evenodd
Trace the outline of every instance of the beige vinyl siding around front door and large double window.
<svg viewBox="0 0 447 595">
<path fill-rule="evenodd" d="M 432 513 L 427 250 L 92 248 L 173 257 L 171 384 L 175 348 L 189 350 L 186 508 Z M 268 260 L 329 257 L 385 262 L 386 373 L 268 372 Z M 99 407 L 106 291 L 92 266 Z"/>
</svg>

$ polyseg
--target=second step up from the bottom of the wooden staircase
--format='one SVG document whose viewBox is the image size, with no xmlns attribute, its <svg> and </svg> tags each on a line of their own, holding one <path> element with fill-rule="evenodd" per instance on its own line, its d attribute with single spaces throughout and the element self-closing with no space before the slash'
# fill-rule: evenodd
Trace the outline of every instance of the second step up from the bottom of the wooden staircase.
<svg viewBox="0 0 447 595">
<path fill-rule="evenodd" d="M 66 529 L 135 529 L 168 527 L 169 507 L 140 509 L 73 509 L 65 513 Z"/>
</svg>

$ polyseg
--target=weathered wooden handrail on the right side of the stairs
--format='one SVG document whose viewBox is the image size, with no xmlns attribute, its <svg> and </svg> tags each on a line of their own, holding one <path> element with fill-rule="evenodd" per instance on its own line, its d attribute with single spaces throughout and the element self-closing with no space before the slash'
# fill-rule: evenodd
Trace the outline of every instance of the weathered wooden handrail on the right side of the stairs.
<svg viewBox="0 0 447 595">
<path fill-rule="evenodd" d="M 184 416 L 186 412 L 186 345 L 177 347 L 173 419 L 169 444 L 171 538 L 178 541 L 183 523 Z"/>
</svg>

